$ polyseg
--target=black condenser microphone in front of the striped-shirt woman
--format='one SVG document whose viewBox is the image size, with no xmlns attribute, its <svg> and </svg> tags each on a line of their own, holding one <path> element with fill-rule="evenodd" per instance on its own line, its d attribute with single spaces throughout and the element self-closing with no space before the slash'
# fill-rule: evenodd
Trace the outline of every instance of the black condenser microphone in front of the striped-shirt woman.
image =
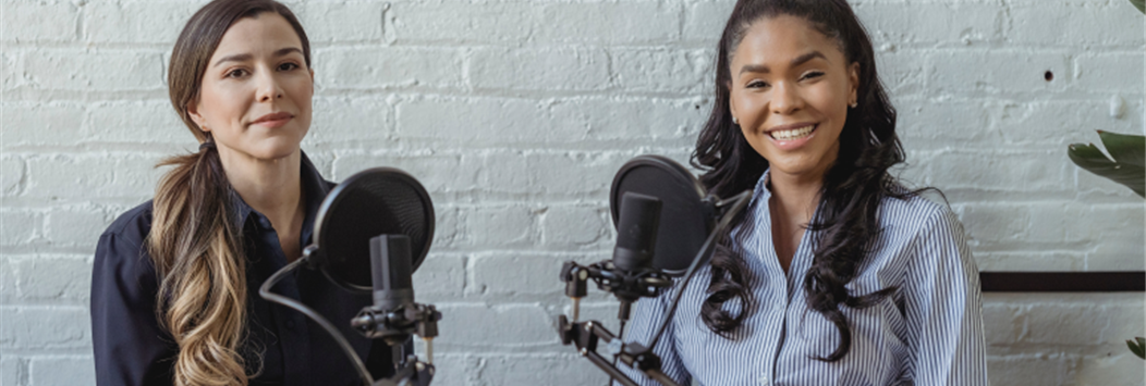
<svg viewBox="0 0 1146 386">
<path fill-rule="evenodd" d="M 652 268 L 660 226 L 661 202 L 657 197 L 626 192 L 621 199 L 621 220 L 617 224 L 613 265 L 626 271 Z"/>
</svg>

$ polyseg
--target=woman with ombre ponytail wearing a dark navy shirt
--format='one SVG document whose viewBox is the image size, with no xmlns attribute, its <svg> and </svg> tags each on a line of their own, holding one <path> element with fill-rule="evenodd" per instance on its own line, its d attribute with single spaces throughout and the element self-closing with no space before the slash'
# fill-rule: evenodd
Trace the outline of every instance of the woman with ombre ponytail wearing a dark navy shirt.
<svg viewBox="0 0 1146 386">
<path fill-rule="evenodd" d="M 92 274 L 99 385 L 360 385 L 335 340 L 257 296 L 300 257 L 333 184 L 299 148 L 314 71 L 306 32 L 273 0 L 215 0 L 183 27 L 171 102 L 199 142 L 155 199 L 100 237 Z M 274 291 L 333 321 L 371 304 L 303 270 Z M 337 323 L 375 376 L 391 349 Z"/>
</svg>

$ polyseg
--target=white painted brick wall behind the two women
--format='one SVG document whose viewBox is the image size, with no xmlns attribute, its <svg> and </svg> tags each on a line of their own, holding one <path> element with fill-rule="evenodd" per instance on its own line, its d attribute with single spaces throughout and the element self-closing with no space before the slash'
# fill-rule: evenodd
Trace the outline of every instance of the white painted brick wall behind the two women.
<svg viewBox="0 0 1146 386">
<path fill-rule="evenodd" d="M 195 149 L 164 77 L 202 3 L 0 0 L 0 386 L 93 383 L 91 254 L 151 196 L 151 165 Z M 732 1 L 289 3 L 314 44 L 319 168 L 397 166 L 435 200 L 416 274 L 446 316 L 435 384 L 603 384 L 554 332 L 557 269 L 609 257 L 625 160 L 688 159 Z M 901 112 L 901 173 L 943 189 L 980 268 L 1146 269 L 1146 202 L 1066 156 L 1093 129 L 1146 133 L 1146 16 L 1125 0 L 853 5 Z M 582 313 L 612 321 L 594 292 Z M 996 385 L 1146 385 L 1122 342 L 1146 336 L 1143 293 L 988 294 L 984 323 Z"/>
</svg>

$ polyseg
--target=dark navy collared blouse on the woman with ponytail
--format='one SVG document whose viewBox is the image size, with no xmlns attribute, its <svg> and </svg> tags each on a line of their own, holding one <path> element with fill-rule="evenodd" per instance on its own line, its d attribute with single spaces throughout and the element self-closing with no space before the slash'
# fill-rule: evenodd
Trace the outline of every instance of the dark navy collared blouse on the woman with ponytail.
<svg viewBox="0 0 1146 386">
<path fill-rule="evenodd" d="M 303 155 L 301 186 L 306 220 L 299 245 L 305 246 L 309 244 L 319 206 L 335 184 L 324 181 Z M 235 199 L 235 206 L 248 250 L 248 337 L 241 352 L 246 359 L 248 373 L 258 372 L 250 384 L 361 385 L 350 360 L 325 330 L 301 314 L 258 296 L 259 286 L 286 265 L 286 257 L 265 215 L 241 198 Z M 172 365 L 179 350 L 157 320 L 160 278 L 144 243 L 151 230 L 151 211 L 150 200 L 136 206 L 100 236 L 92 270 L 92 346 L 97 385 L 173 384 Z M 350 293 L 322 273 L 305 268 L 286 275 L 273 291 L 303 301 L 337 325 L 376 378 L 393 373 L 391 348 L 350 326 L 350 320 L 372 304 L 370 294 Z"/>
</svg>

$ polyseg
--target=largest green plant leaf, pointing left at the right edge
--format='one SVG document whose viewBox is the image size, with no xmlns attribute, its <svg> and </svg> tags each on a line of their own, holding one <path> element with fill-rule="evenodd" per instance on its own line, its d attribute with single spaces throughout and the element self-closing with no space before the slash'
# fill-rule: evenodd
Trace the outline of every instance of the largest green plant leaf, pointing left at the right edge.
<svg viewBox="0 0 1146 386">
<path fill-rule="evenodd" d="M 1093 144 L 1083 143 L 1074 143 L 1068 148 L 1070 160 L 1088 172 L 1121 183 L 1146 198 L 1146 137 L 1101 131 L 1098 134 L 1117 162 L 1107 158 Z"/>
</svg>

